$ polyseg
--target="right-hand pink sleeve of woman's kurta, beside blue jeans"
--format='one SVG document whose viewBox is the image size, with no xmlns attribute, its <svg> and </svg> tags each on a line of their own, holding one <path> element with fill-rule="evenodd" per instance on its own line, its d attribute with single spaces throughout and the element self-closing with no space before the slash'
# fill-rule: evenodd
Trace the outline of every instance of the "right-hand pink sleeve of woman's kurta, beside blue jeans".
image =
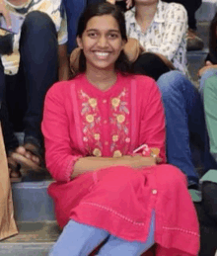
<svg viewBox="0 0 217 256">
<path fill-rule="evenodd" d="M 151 86 L 143 96 L 142 119 L 140 122 L 139 144 L 147 144 L 149 148 L 158 148 L 161 163 L 166 162 L 166 129 L 165 112 L 161 93 L 154 80 L 150 79 Z M 142 92 L 140 93 L 142 95 Z M 144 95 L 144 90 L 143 90 Z"/>
</svg>

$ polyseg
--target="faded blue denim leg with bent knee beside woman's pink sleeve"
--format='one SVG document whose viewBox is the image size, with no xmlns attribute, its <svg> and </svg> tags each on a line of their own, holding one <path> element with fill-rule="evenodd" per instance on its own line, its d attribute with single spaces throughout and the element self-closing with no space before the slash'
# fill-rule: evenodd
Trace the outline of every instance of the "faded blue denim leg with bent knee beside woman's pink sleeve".
<svg viewBox="0 0 217 256">
<path fill-rule="evenodd" d="M 198 176 L 194 169 L 189 147 L 189 116 L 198 100 L 196 89 L 179 71 L 163 74 L 157 81 L 162 92 L 166 114 L 168 162 L 177 166 L 187 176 L 188 185 L 197 184 Z M 196 106 L 195 106 L 196 107 Z M 199 111 L 198 111 L 199 112 Z M 194 121 L 200 124 L 196 113 Z M 191 124 L 193 126 L 193 123 Z M 195 128 L 193 128 L 195 129 Z"/>
</svg>

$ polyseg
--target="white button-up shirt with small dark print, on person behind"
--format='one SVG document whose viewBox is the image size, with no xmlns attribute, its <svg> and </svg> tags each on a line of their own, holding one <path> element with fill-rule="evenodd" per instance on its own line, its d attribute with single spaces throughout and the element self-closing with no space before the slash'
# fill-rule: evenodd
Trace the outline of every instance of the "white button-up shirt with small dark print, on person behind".
<svg viewBox="0 0 217 256">
<path fill-rule="evenodd" d="M 187 14 L 181 4 L 159 0 L 154 19 L 145 33 L 135 19 L 135 7 L 125 13 L 125 20 L 128 38 L 137 39 L 146 51 L 165 55 L 178 70 L 187 74 Z"/>
</svg>

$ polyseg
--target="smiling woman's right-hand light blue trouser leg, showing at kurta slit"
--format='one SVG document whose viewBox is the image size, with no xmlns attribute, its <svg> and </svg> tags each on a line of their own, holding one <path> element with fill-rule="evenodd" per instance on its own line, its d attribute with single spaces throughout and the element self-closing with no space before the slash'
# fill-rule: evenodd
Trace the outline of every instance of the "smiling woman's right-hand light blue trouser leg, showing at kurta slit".
<svg viewBox="0 0 217 256">
<path fill-rule="evenodd" d="M 149 228 L 149 235 L 147 240 L 142 242 L 129 242 L 118 237 L 109 236 L 109 240 L 107 243 L 102 247 L 98 255 L 104 256 L 133 256 L 133 255 L 141 255 L 143 252 L 147 251 L 149 248 L 154 245 L 154 233 L 155 233 L 155 213 L 152 213 L 150 228 Z"/>
</svg>

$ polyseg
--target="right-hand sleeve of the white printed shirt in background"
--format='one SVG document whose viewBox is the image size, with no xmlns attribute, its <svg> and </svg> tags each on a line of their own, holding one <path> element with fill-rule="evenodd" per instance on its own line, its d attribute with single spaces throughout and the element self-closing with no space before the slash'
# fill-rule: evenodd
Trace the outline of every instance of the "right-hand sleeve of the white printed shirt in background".
<svg viewBox="0 0 217 256">
<path fill-rule="evenodd" d="M 161 45 L 151 42 L 145 43 L 145 49 L 149 52 L 156 52 L 165 55 L 172 60 L 177 53 L 181 41 L 186 36 L 187 14 L 181 4 L 170 4 L 165 14 L 164 31 L 158 31 L 155 37 L 161 38 Z"/>
</svg>

